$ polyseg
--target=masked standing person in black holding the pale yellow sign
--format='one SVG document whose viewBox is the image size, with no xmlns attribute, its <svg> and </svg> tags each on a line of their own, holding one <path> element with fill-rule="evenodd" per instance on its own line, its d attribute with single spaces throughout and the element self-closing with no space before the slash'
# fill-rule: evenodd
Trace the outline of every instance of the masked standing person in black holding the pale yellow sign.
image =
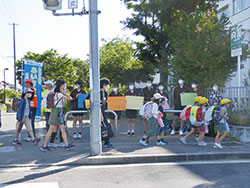
<svg viewBox="0 0 250 188">
<path fill-rule="evenodd" d="M 137 91 L 135 91 L 135 84 L 130 83 L 128 86 L 128 91 L 125 93 L 125 96 L 138 96 Z M 126 110 L 126 118 L 127 118 L 127 135 L 135 136 L 135 118 L 137 115 L 137 110 Z"/>
</svg>

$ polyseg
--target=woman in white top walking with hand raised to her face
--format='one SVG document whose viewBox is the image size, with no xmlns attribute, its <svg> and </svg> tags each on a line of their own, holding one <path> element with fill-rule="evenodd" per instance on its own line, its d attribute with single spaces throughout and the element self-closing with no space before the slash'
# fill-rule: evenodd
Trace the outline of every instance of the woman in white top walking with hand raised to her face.
<svg viewBox="0 0 250 188">
<path fill-rule="evenodd" d="M 68 143 L 68 138 L 66 134 L 66 128 L 64 125 L 64 118 L 63 118 L 63 106 L 65 100 L 72 100 L 72 97 L 65 93 L 66 83 L 63 79 L 59 79 L 56 81 L 56 88 L 54 89 L 55 96 L 54 96 L 54 107 L 52 107 L 50 118 L 49 118 L 49 130 L 45 136 L 44 143 L 40 148 L 42 151 L 51 151 L 48 147 L 48 141 L 51 137 L 51 134 L 54 130 L 60 129 L 62 133 L 62 138 L 65 144 L 65 150 L 69 150 L 74 145 Z"/>
</svg>

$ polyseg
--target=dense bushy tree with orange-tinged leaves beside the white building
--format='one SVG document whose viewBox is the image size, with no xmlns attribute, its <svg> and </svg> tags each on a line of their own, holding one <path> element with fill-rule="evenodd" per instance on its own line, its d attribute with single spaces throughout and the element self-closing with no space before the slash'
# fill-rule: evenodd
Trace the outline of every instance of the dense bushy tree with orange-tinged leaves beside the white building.
<svg viewBox="0 0 250 188">
<path fill-rule="evenodd" d="M 228 19 L 218 20 L 215 9 L 192 14 L 177 10 L 167 28 L 174 49 L 171 72 L 174 81 L 184 76 L 188 84 L 200 81 L 202 89 L 217 82 L 223 85 L 237 68 L 237 59 L 231 58 Z M 244 47 L 245 53 L 247 47 Z"/>
</svg>

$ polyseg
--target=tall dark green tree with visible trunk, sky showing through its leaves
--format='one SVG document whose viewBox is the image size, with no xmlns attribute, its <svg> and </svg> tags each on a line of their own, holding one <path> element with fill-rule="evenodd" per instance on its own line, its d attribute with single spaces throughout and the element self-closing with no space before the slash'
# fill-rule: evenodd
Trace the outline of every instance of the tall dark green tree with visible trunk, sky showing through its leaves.
<svg viewBox="0 0 250 188">
<path fill-rule="evenodd" d="M 168 83 L 170 72 L 170 59 L 172 57 L 172 44 L 167 28 L 171 25 L 172 15 L 176 10 L 187 13 L 194 11 L 198 5 L 201 10 L 206 10 L 218 0 L 121 0 L 128 9 L 133 11 L 132 17 L 123 23 L 133 29 L 135 35 L 144 37 L 143 43 L 138 43 L 138 57 L 140 60 L 155 67 L 160 73 L 163 83 Z M 152 72 L 153 74 L 154 72 Z"/>
</svg>

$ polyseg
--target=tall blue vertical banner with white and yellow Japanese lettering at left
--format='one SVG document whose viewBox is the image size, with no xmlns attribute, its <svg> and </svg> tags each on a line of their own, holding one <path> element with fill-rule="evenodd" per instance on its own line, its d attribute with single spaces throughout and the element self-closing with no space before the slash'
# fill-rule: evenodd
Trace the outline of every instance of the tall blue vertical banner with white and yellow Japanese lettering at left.
<svg viewBox="0 0 250 188">
<path fill-rule="evenodd" d="M 42 68 L 43 64 L 34 61 L 23 61 L 23 82 L 26 79 L 31 79 L 33 87 L 37 94 L 37 111 L 36 121 L 41 120 L 41 102 L 42 102 Z M 22 88 L 24 90 L 25 85 Z"/>
</svg>

